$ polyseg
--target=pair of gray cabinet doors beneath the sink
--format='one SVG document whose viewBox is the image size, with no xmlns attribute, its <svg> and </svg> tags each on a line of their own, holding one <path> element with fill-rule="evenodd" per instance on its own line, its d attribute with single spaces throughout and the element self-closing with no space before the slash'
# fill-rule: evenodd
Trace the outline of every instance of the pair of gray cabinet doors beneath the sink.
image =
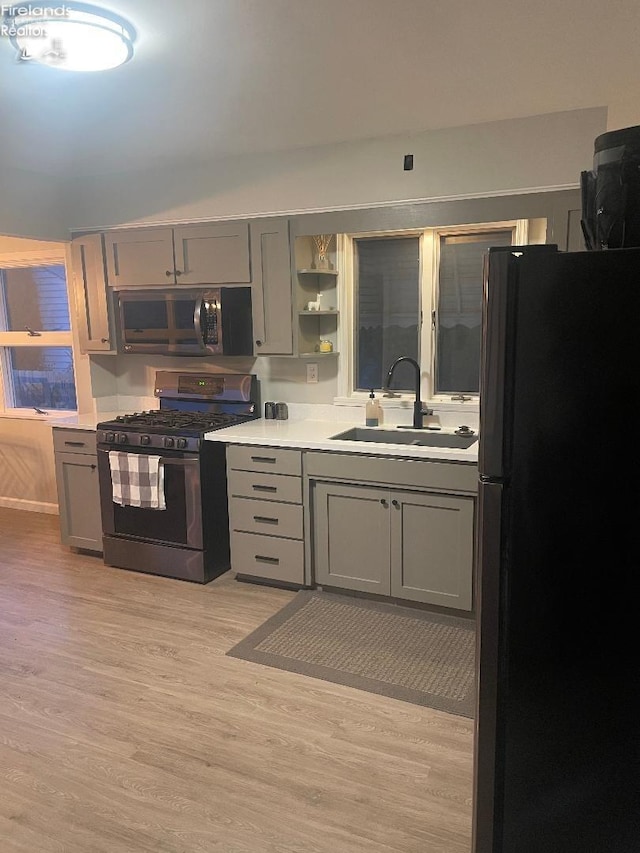
<svg viewBox="0 0 640 853">
<path fill-rule="evenodd" d="M 471 610 L 472 496 L 315 481 L 316 583 Z"/>
</svg>

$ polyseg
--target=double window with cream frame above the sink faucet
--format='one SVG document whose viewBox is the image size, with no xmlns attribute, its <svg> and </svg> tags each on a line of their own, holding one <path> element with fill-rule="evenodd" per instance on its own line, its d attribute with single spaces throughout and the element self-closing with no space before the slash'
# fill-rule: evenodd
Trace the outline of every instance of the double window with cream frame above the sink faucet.
<svg viewBox="0 0 640 853">
<path fill-rule="evenodd" d="M 341 398 L 381 391 L 401 355 L 421 367 L 424 400 L 477 401 L 480 379 L 483 257 L 490 246 L 525 244 L 527 221 L 345 236 Z M 341 313 L 342 313 L 341 312 Z M 393 390 L 414 394 L 400 364 Z"/>
</svg>

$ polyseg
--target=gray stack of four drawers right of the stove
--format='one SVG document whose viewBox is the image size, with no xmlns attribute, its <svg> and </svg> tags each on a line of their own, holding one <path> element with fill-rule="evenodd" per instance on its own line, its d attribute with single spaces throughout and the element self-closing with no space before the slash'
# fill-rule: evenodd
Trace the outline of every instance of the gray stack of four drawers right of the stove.
<svg viewBox="0 0 640 853">
<path fill-rule="evenodd" d="M 227 491 L 236 576 L 302 586 L 301 452 L 229 445 Z"/>
</svg>

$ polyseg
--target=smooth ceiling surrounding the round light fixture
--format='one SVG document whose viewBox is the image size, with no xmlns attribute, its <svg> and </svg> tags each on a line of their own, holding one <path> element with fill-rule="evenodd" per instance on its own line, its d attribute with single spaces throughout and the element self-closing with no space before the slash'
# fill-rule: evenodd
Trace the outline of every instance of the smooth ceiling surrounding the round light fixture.
<svg viewBox="0 0 640 853">
<path fill-rule="evenodd" d="M 133 60 L 113 71 L 19 63 L 0 38 L 5 164 L 129 171 L 606 106 L 640 91 L 638 0 L 101 5 L 138 32 Z"/>
</svg>

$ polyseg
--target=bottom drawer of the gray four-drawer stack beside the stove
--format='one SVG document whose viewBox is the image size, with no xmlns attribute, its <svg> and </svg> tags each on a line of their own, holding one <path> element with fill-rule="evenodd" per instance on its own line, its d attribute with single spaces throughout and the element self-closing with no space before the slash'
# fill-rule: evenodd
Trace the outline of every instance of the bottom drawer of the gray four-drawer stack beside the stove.
<svg viewBox="0 0 640 853">
<path fill-rule="evenodd" d="M 231 568 L 240 575 L 304 583 L 304 545 L 295 539 L 231 534 Z"/>
</svg>

